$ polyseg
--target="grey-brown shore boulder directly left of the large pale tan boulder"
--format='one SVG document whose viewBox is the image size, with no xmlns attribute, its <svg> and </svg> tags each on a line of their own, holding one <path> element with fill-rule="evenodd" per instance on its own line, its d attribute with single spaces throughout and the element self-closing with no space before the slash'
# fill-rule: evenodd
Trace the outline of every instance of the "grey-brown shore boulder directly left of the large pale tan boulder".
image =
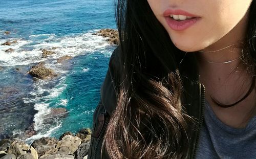
<svg viewBox="0 0 256 159">
<path fill-rule="evenodd" d="M 57 142 L 58 141 L 55 138 L 41 138 L 35 140 L 31 146 L 35 148 L 38 156 L 41 156 L 44 155 L 47 151 L 54 149 Z"/>
</svg>

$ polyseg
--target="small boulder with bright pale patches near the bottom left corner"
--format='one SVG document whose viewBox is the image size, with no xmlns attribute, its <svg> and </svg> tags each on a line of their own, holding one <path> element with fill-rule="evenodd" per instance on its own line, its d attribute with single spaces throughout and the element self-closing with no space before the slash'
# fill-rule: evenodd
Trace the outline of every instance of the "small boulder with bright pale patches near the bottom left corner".
<svg viewBox="0 0 256 159">
<path fill-rule="evenodd" d="M 19 156 L 26 154 L 29 149 L 30 146 L 24 142 L 14 142 L 11 147 L 8 148 L 7 153 Z"/>
</svg>

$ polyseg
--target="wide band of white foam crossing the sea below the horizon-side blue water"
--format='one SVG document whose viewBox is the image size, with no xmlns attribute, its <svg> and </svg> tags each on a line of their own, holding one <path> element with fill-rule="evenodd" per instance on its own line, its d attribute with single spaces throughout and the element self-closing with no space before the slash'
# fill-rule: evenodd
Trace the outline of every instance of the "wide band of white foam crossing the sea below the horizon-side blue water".
<svg viewBox="0 0 256 159">
<path fill-rule="evenodd" d="M 28 65 L 40 61 L 52 60 L 52 65 L 61 66 L 57 64 L 56 60 L 65 55 L 72 57 L 84 55 L 98 51 L 100 53 L 110 56 L 112 51 L 105 49 L 110 46 L 105 38 L 93 35 L 92 33 L 98 30 L 90 30 L 87 33 L 71 34 L 66 36 L 56 36 L 55 34 L 36 34 L 29 36 L 28 40 L 16 39 L 17 44 L 12 46 L 0 46 L 0 64 L 2 66 Z M 50 40 L 49 40 L 50 39 Z M 7 39 L 9 41 L 14 38 Z M 4 43 L 6 39 L 0 39 L 0 43 Z M 9 48 L 14 49 L 14 52 L 6 53 Z M 47 58 L 42 58 L 42 49 L 47 49 L 55 52 Z M 110 55 L 108 55 L 110 54 Z M 56 67 L 55 69 L 57 69 Z M 61 70 L 58 70 L 60 73 Z"/>
</svg>

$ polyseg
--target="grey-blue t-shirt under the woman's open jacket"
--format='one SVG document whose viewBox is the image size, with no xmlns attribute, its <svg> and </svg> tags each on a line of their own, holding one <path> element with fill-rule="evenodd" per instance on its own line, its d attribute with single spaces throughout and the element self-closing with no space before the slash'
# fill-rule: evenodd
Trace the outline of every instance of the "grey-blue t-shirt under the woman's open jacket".
<svg viewBox="0 0 256 159">
<path fill-rule="evenodd" d="M 256 117 L 246 128 L 232 128 L 218 119 L 206 101 L 196 158 L 256 158 Z"/>
</svg>

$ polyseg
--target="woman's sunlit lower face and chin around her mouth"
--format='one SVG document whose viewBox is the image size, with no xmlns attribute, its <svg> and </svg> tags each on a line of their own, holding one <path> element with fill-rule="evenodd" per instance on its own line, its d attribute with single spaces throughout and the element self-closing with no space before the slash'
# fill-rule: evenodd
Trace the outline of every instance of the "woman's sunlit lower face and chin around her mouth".
<svg viewBox="0 0 256 159">
<path fill-rule="evenodd" d="M 195 52 L 211 46 L 236 27 L 248 13 L 252 0 L 147 0 L 147 2 L 175 46 L 182 51 Z M 199 18 L 185 29 L 170 27 L 166 21 L 168 14 L 171 14 L 165 12 L 168 9 L 183 10 Z M 182 12 L 176 14 L 184 15 Z M 182 19 L 182 16 L 179 18 Z M 236 38 L 237 35 L 232 36 Z"/>
</svg>

